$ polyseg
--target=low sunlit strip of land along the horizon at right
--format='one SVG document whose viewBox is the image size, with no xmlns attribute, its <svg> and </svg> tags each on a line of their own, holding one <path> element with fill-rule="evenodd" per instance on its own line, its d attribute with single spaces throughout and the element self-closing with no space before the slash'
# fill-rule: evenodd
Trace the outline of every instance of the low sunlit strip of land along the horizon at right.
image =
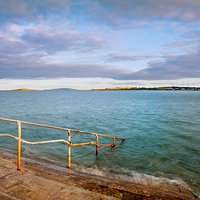
<svg viewBox="0 0 200 200">
<path fill-rule="evenodd" d="M 92 90 L 181 90 L 181 91 L 200 91 L 200 87 L 130 87 L 130 86 L 119 86 L 112 88 L 97 88 Z"/>
</svg>

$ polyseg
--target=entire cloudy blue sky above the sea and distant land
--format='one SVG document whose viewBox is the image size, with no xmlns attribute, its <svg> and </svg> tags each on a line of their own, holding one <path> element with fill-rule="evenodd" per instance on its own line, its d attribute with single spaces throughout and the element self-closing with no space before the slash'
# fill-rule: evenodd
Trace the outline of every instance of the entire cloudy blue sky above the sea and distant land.
<svg viewBox="0 0 200 200">
<path fill-rule="evenodd" d="M 0 89 L 200 86 L 199 0 L 0 0 Z"/>
</svg>

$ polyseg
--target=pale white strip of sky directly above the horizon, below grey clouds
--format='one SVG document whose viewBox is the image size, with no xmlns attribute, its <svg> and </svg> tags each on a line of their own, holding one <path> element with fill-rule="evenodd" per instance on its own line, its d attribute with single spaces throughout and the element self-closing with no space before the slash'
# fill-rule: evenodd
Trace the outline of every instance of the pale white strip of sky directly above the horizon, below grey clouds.
<svg viewBox="0 0 200 200">
<path fill-rule="evenodd" d="M 17 88 L 30 89 L 55 89 L 72 88 L 90 90 L 94 88 L 135 86 L 135 87 L 162 87 L 162 86 L 191 86 L 198 87 L 198 79 L 179 79 L 173 81 L 124 81 L 110 78 L 57 78 L 57 79 L 0 79 L 0 90 L 12 90 Z"/>
</svg>

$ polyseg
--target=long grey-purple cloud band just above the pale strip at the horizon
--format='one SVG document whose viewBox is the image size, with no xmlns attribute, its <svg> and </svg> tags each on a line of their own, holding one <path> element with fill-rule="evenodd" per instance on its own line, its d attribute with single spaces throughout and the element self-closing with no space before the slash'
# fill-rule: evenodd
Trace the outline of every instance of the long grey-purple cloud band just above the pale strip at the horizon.
<svg viewBox="0 0 200 200">
<path fill-rule="evenodd" d="M 20 60 L 19 63 L 7 63 L 0 69 L 0 78 L 52 78 L 52 77 L 102 77 L 116 80 L 176 80 L 200 78 L 200 56 L 189 54 L 169 56 L 164 61 L 149 63 L 148 67 L 131 72 L 121 68 L 95 64 L 47 64 Z M 22 65 L 21 63 L 24 63 Z"/>
</svg>

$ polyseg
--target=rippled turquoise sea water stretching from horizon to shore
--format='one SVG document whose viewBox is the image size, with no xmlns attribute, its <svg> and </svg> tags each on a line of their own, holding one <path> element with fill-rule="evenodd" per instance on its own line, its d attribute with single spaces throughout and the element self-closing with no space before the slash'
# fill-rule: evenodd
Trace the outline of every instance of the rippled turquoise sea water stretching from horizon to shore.
<svg viewBox="0 0 200 200">
<path fill-rule="evenodd" d="M 115 149 L 95 156 L 95 147 L 72 149 L 72 167 L 148 174 L 183 180 L 200 191 L 200 92 L 74 91 L 0 92 L 0 116 L 95 131 L 126 138 Z M 16 125 L 0 121 L 0 133 L 16 135 Z M 67 138 L 63 131 L 23 126 L 29 141 Z M 76 135 L 72 142 L 94 141 Z M 100 139 L 100 143 L 106 142 Z M 23 144 L 22 154 L 66 166 L 67 146 Z M 16 141 L 0 138 L 0 147 L 16 149 Z"/>
</svg>

